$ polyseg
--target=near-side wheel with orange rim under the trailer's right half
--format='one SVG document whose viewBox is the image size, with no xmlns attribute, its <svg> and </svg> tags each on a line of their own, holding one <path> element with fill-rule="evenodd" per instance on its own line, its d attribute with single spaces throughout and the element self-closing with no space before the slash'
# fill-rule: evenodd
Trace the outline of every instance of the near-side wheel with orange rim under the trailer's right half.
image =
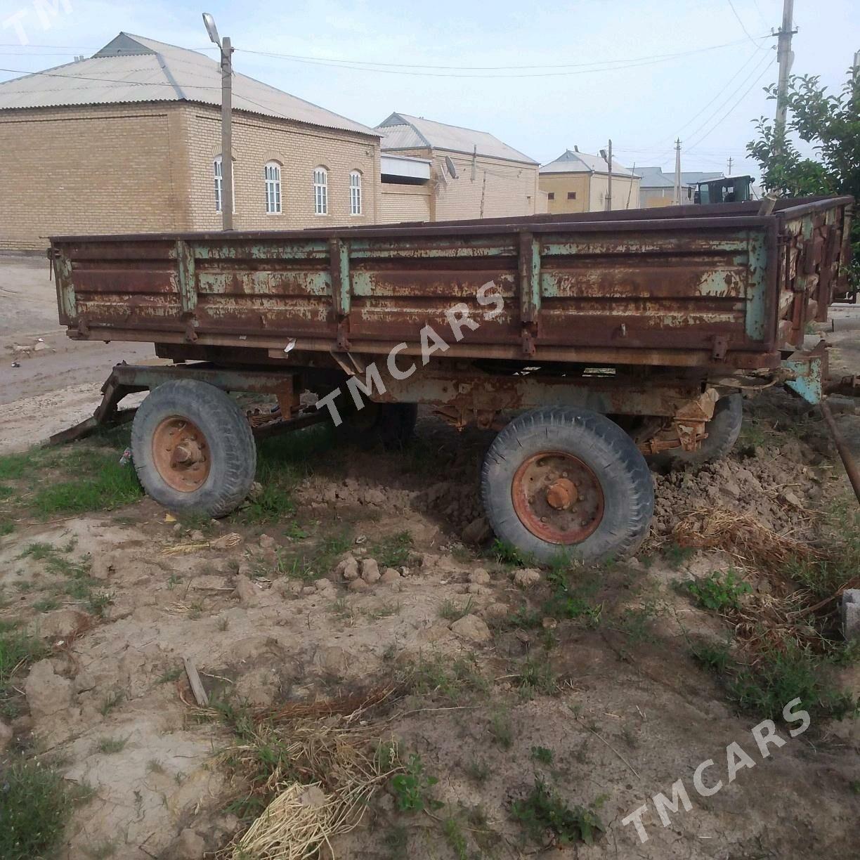
<svg viewBox="0 0 860 860">
<path fill-rule="evenodd" d="M 484 458 L 481 490 L 496 536 L 538 562 L 630 555 L 654 514 L 642 453 L 587 409 L 541 408 L 511 421 Z"/>
</svg>

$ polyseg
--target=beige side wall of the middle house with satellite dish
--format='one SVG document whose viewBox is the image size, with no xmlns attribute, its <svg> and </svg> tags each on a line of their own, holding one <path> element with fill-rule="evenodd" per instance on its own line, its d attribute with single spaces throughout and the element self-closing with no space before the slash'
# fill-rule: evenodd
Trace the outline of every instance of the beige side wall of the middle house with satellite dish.
<svg viewBox="0 0 860 860">
<path fill-rule="evenodd" d="M 533 215 L 539 209 L 537 164 L 478 156 L 473 179 L 471 156 L 445 150 L 404 150 L 393 154 L 432 160 L 433 221 Z M 445 156 L 454 163 L 457 179 L 448 175 Z M 443 170 L 445 181 L 440 178 Z"/>
</svg>

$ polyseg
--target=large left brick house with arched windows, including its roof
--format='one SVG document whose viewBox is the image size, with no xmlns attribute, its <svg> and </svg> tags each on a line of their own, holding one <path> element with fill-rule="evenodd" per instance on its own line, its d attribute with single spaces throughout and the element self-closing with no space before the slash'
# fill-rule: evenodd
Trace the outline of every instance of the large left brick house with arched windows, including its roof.
<svg viewBox="0 0 860 860">
<path fill-rule="evenodd" d="M 129 34 L 0 83 L 0 250 L 218 229 L 220 88 L 211 58 Z M 233 107 L 237 230 L 378 220 L 378 132 L 243 75 Z"/>
</svg>

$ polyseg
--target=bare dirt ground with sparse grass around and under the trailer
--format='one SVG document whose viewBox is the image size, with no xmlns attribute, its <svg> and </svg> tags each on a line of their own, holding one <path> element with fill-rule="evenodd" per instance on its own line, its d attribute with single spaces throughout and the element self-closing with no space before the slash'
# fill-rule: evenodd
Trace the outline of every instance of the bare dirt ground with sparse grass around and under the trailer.
<svg viewBox="0 0 860 860">
<path fill-rule="evenodd" d="M 45 274 L 42 261 L 0 258 L 0 301 L 12 309 L 0 320 L 0 453 L 85 417 L 114 361 L 151 354 L 65 341 Z M 834 317 L 832 364 L 860 372 L 860 315 Z M 39 337 L 45 349 L 11 348 Z M 736 568 L 753 612 L 780 586 L 766 560 L 680 547 L 679 524 L 724 510 L 783 543 L 815 546 L 821 512 L 849 493 L 817 416 L 781 392 L 745 410 L 726 461 L 654 472 L 648 541 L 634 559 L 576 569 L 565 596 L 581 605 L 563 618 L 546 614 L 553 572 L 488 539 L 478 474 L 491 435 L 458 434 L 430 416 L 402 452 L 344 449 L 316 428 L 273 445 L 271 462 L 295 475 L 278 515 L 257 501 L 218 522 L 179 523 L 142 498 L 15 520 L 0 537 L 0 622 L 27 629 L 46 654 L 15 676 L 0 729 L 8 722 L 8 751 L 88 787 L 59 856 L 240 857 L 226 849 L 254 817 L 242 802 L 253 786 L 241 755 L 224 754 L 239 742 L 235 725 L 194 704 L 183 660 L 213 703 L 257 715 L 310 705 L 320 731 L 341 725 L 326 703 L 388 691 L 349 725 L 396 739 L 404 765 L 418 756 L 421 773 L 438 779 L 423 783 L 433 803 L 403 811 L 402 794 L 382 783 L 359 825 L 321 857 L 540 853 L 549 839 L 530 839 L 513 812 L 537 783 L 570 808 L 593 805 L 605 827 L 593 845 L 561 840 L 552 857 L 856 856 L 860 722 L 813 716 L 789 738 L 777 720 L 786 742 L 765 759 L 751 730 L 768 715 L 730 700 L 696 657 L 740 634 L 684 583 Z M 839 422 L 857 445 L 851 402 Z M 119 456 L 124 443 L 85 444 Z M 28 498 L 26 475 L 8 483 Z M 73 581 L 86 583 L 85 599 Z M 838 681 L 860 697 L 856 662 L 839 667 Z M 729 781 L 733 742 L 751 763 Z M 692 788 L 706 759 L 715 764 L 705 782 L 725 783 L 712 796 Z M 679 779 L 691 808 L 662 826 L 650 798 L 671 798 Z M 641 842 L 622 819 L 644 803 Z"/>
</svg>

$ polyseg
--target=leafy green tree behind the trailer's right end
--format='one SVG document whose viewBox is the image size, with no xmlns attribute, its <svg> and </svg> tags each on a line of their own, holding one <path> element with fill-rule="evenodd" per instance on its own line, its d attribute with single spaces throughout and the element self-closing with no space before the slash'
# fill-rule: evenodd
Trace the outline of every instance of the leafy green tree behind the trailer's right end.
<svg viewBox="0 0 860 860">
<path fill-rule="evenodd" d="M 776 100 L 776 84 L 766 91 Z M 829 94 L 817 76 L 792 76 L 786 104 L 789 119 L 783 145 L 776 145 L 774 123 L 765 117 L 756 122 L 758 137 L 746 144 L 746 151 L 759 163 L 762 187 L 791 197 L 853 194 L 860 198 L 860 72 L 851 69 L 836 95 Z M 813 144 L 815 157 L 802 157 L 790 138 L 792 133 Z M 854 289 L 860 286 L 858 215 L 851 227 Z"/>
</svg>

